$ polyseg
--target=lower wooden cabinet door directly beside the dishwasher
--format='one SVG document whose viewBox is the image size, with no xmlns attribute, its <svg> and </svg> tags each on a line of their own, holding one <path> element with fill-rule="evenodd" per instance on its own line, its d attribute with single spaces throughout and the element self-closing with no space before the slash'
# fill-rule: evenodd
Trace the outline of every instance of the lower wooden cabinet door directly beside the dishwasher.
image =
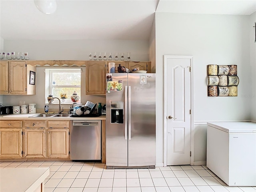
<svg viewBox="0 0 256 192">
<path fill-rule="evenodd" d="M 69 135 L 68 128 L 48 129 L 48 157 L 69 157 Z"/>
</svg>

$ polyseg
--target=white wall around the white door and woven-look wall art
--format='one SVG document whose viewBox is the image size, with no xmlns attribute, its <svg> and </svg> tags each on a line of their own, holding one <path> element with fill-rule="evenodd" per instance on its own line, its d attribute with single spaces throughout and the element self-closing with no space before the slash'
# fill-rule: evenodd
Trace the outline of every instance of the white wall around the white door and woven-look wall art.
<svg viewBox="0 0 256 192">
<path fill-rule="evenodd" d="M 249 16 L 156 13 L 157 143 L 163 143 L 164 55 L 193 56 L 194 161 L 206 161 L 206 122 L 250 120 Z M 207 96 L 207 65 L 238 65 L 237 97 Z M 158 146 L 157 162 L 163 146 Z M 192 149 L 193 151 L 193 149 Z"/>
</svg>

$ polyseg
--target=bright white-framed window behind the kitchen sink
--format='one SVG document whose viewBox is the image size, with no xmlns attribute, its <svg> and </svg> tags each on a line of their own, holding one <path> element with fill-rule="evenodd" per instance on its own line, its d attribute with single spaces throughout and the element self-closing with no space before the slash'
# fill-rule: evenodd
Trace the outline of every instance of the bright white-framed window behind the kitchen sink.
<svg viewBox="0 0 256 192">
<path fill-rule="evenodd" d="M 72 103 L 70 96 L 74 93 L 81 98 L 81 69 L 80 68 L 56 68 L 46 69 L 46 94 L 60 98 L 62 103 Z M 47 81 L 48 79 L 48 81 Z M 61 96 L 66 95 L 66 100 Z M 47 95 L 47 96 L 48 96 Z M 47 98 L 47 97 L 46 97 Z M 46 101 L 47 102 L 47 101 Z"/>
</svg>

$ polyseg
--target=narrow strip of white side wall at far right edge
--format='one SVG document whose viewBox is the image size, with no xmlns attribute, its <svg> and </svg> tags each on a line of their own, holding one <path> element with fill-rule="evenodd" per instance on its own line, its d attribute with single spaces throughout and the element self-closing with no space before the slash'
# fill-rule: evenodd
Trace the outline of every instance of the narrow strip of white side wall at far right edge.
<svg viewBox="0 0 256 192">
<path fill-rule="evenodd" d="M 248 95 L 248 99 L 251 100 L 251 120 L 256 122 L 256 42 L 255 41 L 255 26 L 256 22 L 256 12 L 250 15 L 248 28 L 250 31 L 250 67 L 251 67 L 251 86 L 252 93 Z"/>
</svg>

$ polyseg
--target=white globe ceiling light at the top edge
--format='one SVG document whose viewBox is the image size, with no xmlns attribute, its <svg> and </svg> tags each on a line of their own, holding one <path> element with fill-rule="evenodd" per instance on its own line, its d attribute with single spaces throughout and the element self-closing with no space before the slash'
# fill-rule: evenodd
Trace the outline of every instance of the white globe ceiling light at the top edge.
<svg viewBox="0 0 256 192">
<path fill-rule="evenodd" d="M 52 14 L 57 9 L 56 0 L 34 0 L 36 8 L 44 14 Z"/>
</svg>

